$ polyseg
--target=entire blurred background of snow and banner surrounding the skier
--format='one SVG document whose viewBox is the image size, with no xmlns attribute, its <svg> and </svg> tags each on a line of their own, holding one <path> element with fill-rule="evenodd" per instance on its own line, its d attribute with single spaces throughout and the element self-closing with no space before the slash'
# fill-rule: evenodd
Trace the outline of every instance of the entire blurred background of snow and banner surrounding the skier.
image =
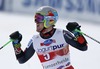
<svg viewBox="0 0 100 69">
<path fill-rule="evenodd" d="M 56 27 L 66 29 L 68 22 L 78 22 L 82 31 L 100 41 L 100 0 L 0 0 L 0 47 L 18 30 L 23 35 L 24 50 L 35 31 L 34 13 L 41 6 L 52 6 L 59 14 Z M 89 49 L 81 52 L 70 47 L 75 69 L 100 69 L 100 44 L 87 38 Z M 43 69 L 35 54 L 25 64 L 15 58 L 12 44 L 0 50 L 1 69 Z"/>
</svg>

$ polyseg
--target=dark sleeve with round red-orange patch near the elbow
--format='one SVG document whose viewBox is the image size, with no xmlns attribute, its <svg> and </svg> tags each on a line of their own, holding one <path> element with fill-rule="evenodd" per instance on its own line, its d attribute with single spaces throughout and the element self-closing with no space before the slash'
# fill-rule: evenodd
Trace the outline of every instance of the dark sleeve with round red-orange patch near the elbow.
<svg viewBox="0 0 100 69">
<path fill-rule="evenodd" d="M 75 47 L 81 51 L 87 50 L 87 48 L 88 48 L 87 41 L 83 35 L 79 35 L 78 37 L 75 37 L 69 31 L 65 31 L 65 30 L 63 30 L 63 35 L 65 38 L 65 41 L 68 44 L 70 44 L 72 47 Z"/>
</svg>

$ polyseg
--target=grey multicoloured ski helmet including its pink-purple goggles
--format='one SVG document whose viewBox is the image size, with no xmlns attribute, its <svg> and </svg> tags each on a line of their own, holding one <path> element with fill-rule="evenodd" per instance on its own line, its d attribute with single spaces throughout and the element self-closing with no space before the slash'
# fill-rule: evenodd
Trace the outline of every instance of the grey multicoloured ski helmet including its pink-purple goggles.
<svg viewBox="0 0 100 69">
<path fill-rule="evenodd" d="M 44 23 L 44 27 L 48 28 L 58 20 L 58 13 L 57 11 L 50 7 L 50 6 L 43 6 L 37 9 L 35 14 L 35 21 Z"/>
</svg>

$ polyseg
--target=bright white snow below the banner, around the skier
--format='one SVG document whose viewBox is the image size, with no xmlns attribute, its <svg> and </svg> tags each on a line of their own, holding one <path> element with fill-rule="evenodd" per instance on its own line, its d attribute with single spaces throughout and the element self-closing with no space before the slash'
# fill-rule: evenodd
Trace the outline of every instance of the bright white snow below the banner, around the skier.
<svg viewBox="0 0 100 69">
<path fill-rule="evenodd" d="M 0 47 L 9 41 L 9 35 L 14 31 L 19 31 L 23 35 L 22 49 L 27 46 L 30 38 L 36 34 L 34 16 L 12 14 L 0 12 Z M 59 19 L 56 27 L 65 29 L 69 21 L 77 21 L 82 27 L 82 32 L 99 40 L 100 24 L 83 22 L 79 20 Z M 75 69 L 100 69 L 100 44 L 86 37 L 88 41 L 88 50 L 79 51 L 70 46 L 71 63 Z M 100 40 L 99 40 L 100 41 Z M 12 44 L 8 44 L 0 50 L 0 69 L 42 69 L 37 55 L 26 63 L 19 64 L 15 58 Z"/>
</svg>

